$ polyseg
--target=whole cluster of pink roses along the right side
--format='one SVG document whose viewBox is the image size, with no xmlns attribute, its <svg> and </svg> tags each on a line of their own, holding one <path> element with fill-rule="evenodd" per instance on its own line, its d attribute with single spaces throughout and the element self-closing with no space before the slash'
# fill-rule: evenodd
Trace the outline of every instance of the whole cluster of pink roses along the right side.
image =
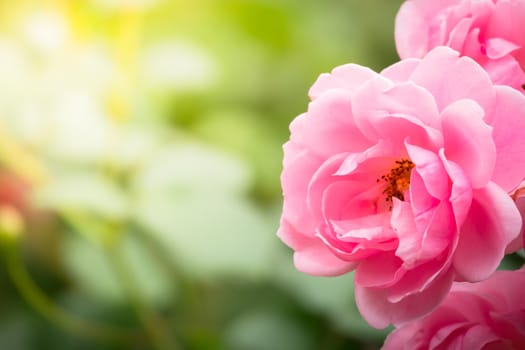
<svg viewBox="0 0 525 350">
<path fill-rule="evenodd" d="M 300 271 L 355 271 L 363 317 L 401 327 L 386 348 L 418 329 L 409 348 L 525 342 L 525 304 L 484 292 L 525 290 L 523 270 L 494 274 L 523 247 L 522 23 L 525 0 L 408 0 L 396 19 L 402 60 L 322 74 L 290 125 L 278 236 Z M 466 339 L 484 331 L 482 311 L 443 320 L 470 297 L 496 320 L 476 344 Z"/>
</svg>

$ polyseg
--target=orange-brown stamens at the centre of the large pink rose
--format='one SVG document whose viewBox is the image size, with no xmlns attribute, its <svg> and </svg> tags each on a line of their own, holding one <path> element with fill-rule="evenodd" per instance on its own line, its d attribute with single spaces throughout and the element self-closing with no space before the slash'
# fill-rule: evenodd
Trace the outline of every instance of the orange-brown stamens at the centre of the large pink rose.
<svg viewBox="0 0 525 350">
<path fill-rule="evenodd" d="M 410 187 L 410 173 L 414 168 L 414 163 L 410 159 L 396 160 L 395 165 L 390 172 L 381 175 L 377 182 L 385 182 L 386 188 L 383 194 L 386 195 L 386 201 L 392 202 L 392 197 L 405 200 L 405 192 Z M 392 208 L 390 208 L 392 209 Z"/>
</svg>

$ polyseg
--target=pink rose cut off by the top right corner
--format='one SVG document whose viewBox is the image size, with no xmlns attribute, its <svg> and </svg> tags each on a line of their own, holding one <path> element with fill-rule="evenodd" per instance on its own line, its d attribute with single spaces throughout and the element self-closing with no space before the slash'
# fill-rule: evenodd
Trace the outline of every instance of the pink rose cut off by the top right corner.
<svg viewBox="0 0 525 350">
<path fill-rule="evenodd" d="M 476 60 L 496 84 L 525 93 L 525 0 L 408 0 L 396 17 L 401 58 L 445 45 Z"/>
</svg>

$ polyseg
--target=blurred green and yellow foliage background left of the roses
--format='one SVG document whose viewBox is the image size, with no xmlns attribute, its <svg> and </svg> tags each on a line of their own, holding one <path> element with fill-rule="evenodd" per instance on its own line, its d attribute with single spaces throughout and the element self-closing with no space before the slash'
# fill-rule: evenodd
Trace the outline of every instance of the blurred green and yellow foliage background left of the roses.
<svg viewBox="0 0 525 350">
<path fill-rule="evenodd" d="M 275 236 L 316 77 L 401 0 L 0 2 L 0 349 L 377 349 Z"/>
</svg>

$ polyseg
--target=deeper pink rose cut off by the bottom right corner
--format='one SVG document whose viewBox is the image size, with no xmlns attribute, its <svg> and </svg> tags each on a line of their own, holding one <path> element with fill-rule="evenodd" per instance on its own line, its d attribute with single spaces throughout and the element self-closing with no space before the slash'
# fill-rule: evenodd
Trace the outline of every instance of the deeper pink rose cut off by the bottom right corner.
<svg viewBox="0 0 525 350">
<path fill-rule="evenodd" d="M 390 333 L 383 349 L 525 349 L 524 291 L 524 269 L 455 283 L 434 312 Z"/>
</svg>

